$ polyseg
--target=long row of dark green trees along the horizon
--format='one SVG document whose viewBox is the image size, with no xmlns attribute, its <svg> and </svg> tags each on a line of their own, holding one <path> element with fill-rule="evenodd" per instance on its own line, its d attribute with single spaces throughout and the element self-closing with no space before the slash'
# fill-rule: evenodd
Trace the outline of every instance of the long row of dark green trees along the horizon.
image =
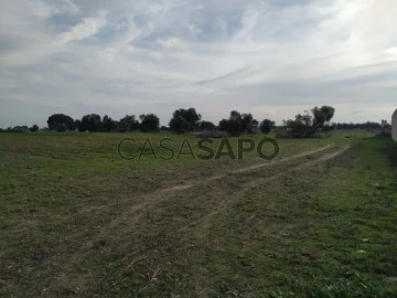
<svg viewBox="0 0 397 298">
<path fill-rule="evenodd" d="M 387 128 L 386 120 L 365 124 L 331 124 L 335 109 L 331 106 L 313 107 L 310 111 L 298 114 L 293 119 L 283 120 L 279 129 L 281 136 L 296 138 L 312 138 L 321 131 L 332 129 L 382 129 Z M 142 114 L 138 118 L 135 115 L 126 115 L 116 120 L 105 115 L 88 114 L 81 119 L 73 119 L 65 114 L 53 114 L 47 119 L 47 130 L 54 131 L 90 131 L 90 132 L 157 132 L 160 130 L 185 134 L 192 131 L 225 131 L 229 136 L 242 134 L 264 132 L 269 134 L 275 128 L 275 121 L 264 119 L 258 121 L 250 113 L 232 110 L 227 118 L 222 119 L 217 125 L 203 120 L 202 115 L 195 108 L 180 108 L 172 114 L 169 126 L 160 127 L 160 119 L 154 114 Z M 17 126 L 0 131 L 37 131 L 39 126 Z"/>
</svg>

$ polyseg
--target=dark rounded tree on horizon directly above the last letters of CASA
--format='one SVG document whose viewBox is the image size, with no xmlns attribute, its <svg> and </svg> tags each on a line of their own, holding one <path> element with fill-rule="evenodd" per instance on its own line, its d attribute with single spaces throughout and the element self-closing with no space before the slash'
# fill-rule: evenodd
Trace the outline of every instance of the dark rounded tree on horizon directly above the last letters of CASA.
<svg viewBox="0 0 397 298">
<path fill-rule="evenodd" d="M 180 108 L 172 114 L 170 120 L 170 130 L 182 134 L 185 131 L 193 130 L 200 121 L 201 115 L 196 113 L 195 108 Z"/>
</svg>

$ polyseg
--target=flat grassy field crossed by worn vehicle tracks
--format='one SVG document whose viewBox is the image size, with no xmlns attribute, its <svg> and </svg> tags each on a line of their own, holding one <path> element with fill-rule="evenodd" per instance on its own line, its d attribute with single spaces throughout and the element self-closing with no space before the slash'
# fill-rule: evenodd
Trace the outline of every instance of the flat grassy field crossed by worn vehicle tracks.
<svg viewBox="0 0 397 298">
<path fill-rule="evenodd" d="M 130 137 L 197 153 L 194 136 L 0 135 L 0 296 L 397 297 L 391 140 L 277 139 L 271 161 L 125 160 Z"/>
</svg>

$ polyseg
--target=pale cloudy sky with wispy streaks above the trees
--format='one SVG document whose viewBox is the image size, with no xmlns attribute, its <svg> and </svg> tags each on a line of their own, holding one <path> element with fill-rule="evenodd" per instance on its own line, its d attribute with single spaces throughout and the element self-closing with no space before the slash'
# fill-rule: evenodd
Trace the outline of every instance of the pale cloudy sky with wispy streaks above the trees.
<svg viewBox="0 0 397 298">
<path fill-rule="evenodd" d="M 281 124 L 391 119 L 396 0 L 0 0 L 0 127 L 54 113 L 167 125 L 194 107 Z"/>
</svg>

